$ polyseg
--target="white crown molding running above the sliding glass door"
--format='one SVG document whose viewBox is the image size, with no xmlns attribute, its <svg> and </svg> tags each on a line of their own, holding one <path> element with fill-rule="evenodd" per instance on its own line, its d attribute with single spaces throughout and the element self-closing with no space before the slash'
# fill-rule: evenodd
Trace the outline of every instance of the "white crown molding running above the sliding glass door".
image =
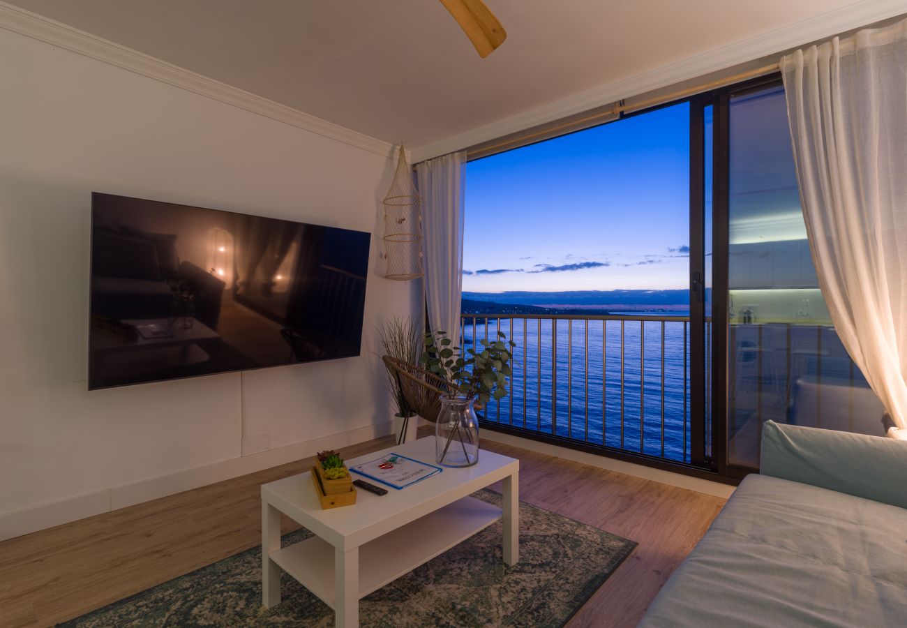
<svg viewBox="0 0 907 628">
<path fill-rule="evenodd" d="M 664 89 L 707 74 L 726 71 L 737 65 L 753 62 L 769 55 L 780 55 L 786 50 L 905 13 L 907 13 L 907 5 L 904 0 L 855 2 L 852 5 L 843 6 L 774 31 L 758 34 L 734 44 L 720 46 L 706 53 L 694 54 L 649 72 L 605 83 L 586 92 L 517 113 L 494 123 L 484 124 L 438 142 L 414 147 L 413 162 L 423 162 L 448 152 L 461 151 L 481 142 L 489 142 L 511 133 L 587 112 L 621 99 L 629 99 L 643 93 Z"/>
</svg>

